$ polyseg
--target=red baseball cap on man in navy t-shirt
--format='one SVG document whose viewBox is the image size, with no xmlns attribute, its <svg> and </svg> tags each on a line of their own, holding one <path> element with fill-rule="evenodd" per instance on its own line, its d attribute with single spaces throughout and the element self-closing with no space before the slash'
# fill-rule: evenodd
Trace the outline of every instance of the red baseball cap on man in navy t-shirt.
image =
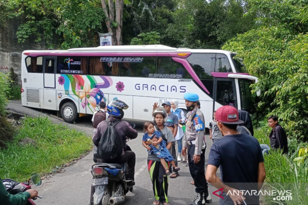
<svg viewBox="0 0 308 205">
<path fill-rule="evenodd" d="M 216 120 L 225 124 L 242 124 L 243 120 L 238 118 L 238 111 L 236 108 L 226 105 L 217 109 Z"/>
</svg>

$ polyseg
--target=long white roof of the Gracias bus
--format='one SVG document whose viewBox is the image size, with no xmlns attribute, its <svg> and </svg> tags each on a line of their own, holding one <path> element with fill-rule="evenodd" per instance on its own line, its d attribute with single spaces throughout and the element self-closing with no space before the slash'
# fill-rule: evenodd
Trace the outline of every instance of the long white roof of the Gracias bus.
<svg viewBox="0 0 308 205">
<path fill-rule="evenodd" d="M 33 52 L 35 53 L 191 52 L 191 53 L 224 53 L 224 54 L 234 53 L 232 51 L 217 50 L 217 49 L 173 48 L 166 45 L 113 45 L 113 46 L 98 46 L 93 48 L 72 48 L 68 50 L 25 50 L 23 53 L 33 53 Z"/>
</svg>

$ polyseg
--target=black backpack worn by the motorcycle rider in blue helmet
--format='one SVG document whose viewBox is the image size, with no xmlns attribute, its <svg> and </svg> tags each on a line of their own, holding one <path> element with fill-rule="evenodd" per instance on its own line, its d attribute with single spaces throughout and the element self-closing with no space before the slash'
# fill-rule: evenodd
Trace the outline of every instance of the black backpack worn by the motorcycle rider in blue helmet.
<svg viewBox="0 0 308 205">
<path fill-rule="evenodd" d="M 120 139 L 114 126 L 120 122 L 109 122 L 106 120 L 108 127 L 101 136 L 97 147 L 97 158 L 104 160 L 112 160 L 121 156 L 124 148 L 124 139 Z"/>
</svg>

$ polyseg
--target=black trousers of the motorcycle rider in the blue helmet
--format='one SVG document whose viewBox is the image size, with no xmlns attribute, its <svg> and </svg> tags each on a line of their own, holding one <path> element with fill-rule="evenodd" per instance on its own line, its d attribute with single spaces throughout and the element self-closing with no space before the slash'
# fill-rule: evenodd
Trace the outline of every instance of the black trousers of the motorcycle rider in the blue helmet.
<svg viewBox="0 0 308 205">
<path fill-rule="evenodd" d="M 124 155 L 113 159 L 113 160 L 97 160 L 98 163 L 116 163 L 116 164 L 124 164 L 127 162 L 128 169 L 126 171 L 126 179 L 135 180 L 135 164 L 136 164 L 136 154 L 133 151 L 124 151 Z M 94 177 L 93 177 L 94 178 Z M 91 186 L 91 195 L 90 201 L 93 201 L 93 194 L 95 192 L 95 187 Z"/>
</svg>

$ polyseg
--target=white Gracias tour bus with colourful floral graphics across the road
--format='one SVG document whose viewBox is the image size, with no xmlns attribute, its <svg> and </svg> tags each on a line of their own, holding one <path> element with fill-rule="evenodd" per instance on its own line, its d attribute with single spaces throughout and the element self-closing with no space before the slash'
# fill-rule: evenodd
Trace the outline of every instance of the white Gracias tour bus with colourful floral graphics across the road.
<svg viewBox="0 0 308 205">
<path fill-rule="evenodd" d="M 249 86 L 236 53 L 165 45 L 120 45 L 22 53 L 22 106 L 57 111 L 68 123 L 93 114 L 100 101 L 128 104 L 124 119 L 152 120 L 153 104 L 197 93 L 205 123 L 223 105 L 254 112 Z"/>
</svg>

